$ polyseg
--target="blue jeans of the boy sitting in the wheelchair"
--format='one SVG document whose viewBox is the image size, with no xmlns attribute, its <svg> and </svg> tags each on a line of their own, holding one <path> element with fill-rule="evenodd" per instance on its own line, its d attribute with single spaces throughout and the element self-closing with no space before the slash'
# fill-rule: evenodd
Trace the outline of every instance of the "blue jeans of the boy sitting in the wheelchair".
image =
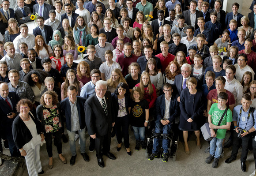
<svg viewBox="0 0 256 176">
<path fill-rule="evenodd" d="M 169 123 L 168 125 L 163 125 L 160 121 L 155 121 L 155 133 L 163 133 L 168 135 L 169 131 L 171 130 L 172 124 Z M 162 147 L 164 149 L 164 153 L 168 153 L 168 139 L 164 139 L 163 138 L 163 142 L 162 142 Z M 153 154 L 157 154 L 158 153 L 158 145 L 159 145 L 159 138 L 155 138 L 154 139 L 154 144 L 153 144 Z"/>
</svg>

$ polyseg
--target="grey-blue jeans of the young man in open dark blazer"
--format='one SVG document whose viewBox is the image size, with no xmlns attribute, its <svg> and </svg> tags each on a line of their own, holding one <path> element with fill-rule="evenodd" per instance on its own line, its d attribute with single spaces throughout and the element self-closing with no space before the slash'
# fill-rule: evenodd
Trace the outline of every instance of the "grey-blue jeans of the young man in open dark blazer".
<svg viewBox="0 0 256 176">
<path fill-rule="evenodd" d="M 72 153 L 72 156 L 76 155 L 75 149 L 75 131 L 68 131 L 68 138 L 69 138 L 69 146 Z M 85 153 L 85 128 L 82 130 L 78 130 L 79 140 L 80 140 L 80 151 L 81 154 Z"/>
</svg>

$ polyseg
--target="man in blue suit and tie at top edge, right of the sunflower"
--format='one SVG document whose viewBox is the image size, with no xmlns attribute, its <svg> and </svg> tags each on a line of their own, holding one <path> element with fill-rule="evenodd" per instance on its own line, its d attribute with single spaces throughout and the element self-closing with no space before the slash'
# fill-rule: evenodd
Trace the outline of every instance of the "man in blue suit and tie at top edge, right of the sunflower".
<svg viewBox="0 0 256 176">
<path fill-rule="evenodd" d="M 39 16 L 44 17 L 45 20 L 49 19 L 49 11 L 53 9 L 53 6 L 44 3 L 44 0 L 37 0 L 37 2 L 38 4 L 35 4 L 33 7 L 34 12 L 37 12 Z"/>
</svg>

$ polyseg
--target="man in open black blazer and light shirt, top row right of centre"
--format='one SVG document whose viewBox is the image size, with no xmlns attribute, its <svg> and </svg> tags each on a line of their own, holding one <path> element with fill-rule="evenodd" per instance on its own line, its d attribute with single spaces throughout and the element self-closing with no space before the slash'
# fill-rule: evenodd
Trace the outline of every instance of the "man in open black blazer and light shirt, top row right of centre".
<svg viewBox="0 0 256 176">
<path fill-rule="evenodd" d="M 190 9 L 183 11 L 182 15 L 185 17 L 185 23 L 187 23 L 187 25 L 191 25 L 196 29 L 198 29 L 198 25 L 197 25 L 197 18 L 202 17 L 203 16 L 203 12 L 202 11 L 198 11 L 196 10 L 196 6 L 197 3 L 195 0 L 190 1 Z M 196 16 L 194 15 L 196 13 Z M 192 15 L 192 18 L 190 17 Z M 193 18 L 195 16 L 195 18 Z M 191 19 L 193 19 L 191 21 Z"/>
</svg>

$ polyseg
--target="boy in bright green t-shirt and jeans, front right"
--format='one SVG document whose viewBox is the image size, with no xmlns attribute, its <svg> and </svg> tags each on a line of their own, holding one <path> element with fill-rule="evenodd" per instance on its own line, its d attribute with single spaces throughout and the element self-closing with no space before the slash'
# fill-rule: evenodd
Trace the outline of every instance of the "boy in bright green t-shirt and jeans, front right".
<svg viewBox="0 0 256 176">
<path fill-rule="evenodd" d="M 210 142 L 210 156 L 206 158 L 205 162 L 210 164 L 214 159 L 212 163 L 213 168 L 218 166 L 218 159 L 222 153 L 222 142 L 226 135 L 226 129 L 230 128 L 230 124 L 232 122 L 232 112 L 230 109 L 228 109 L 222 119 L 221 124 L 218 126 L 218 122 L 226 110 L 227 101 L 228 94 L 225 92 L 220 92 L 218 94 L 218 103 L 211 105 L 211 109 L 209 111 L 208 121 L 211 129 L 211 137 L 213 137 L 213 139 Z"/>
</svg>

